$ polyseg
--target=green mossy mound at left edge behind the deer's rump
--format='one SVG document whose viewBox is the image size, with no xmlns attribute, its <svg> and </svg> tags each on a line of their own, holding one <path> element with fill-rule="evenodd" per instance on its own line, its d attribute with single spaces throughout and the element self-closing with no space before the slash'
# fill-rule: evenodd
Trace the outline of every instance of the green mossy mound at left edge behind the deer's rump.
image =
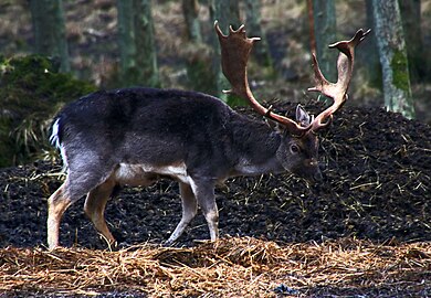
<svg viewBox="0 0 431 298">
<path fill-rule="evenodd" d="M 59 66 L 36 55 L 0 57 L 0 167 L 30 162 L 48 150 L 53 115 L 64 103 L 96 89 L 59 73 Z"/>
</svg>

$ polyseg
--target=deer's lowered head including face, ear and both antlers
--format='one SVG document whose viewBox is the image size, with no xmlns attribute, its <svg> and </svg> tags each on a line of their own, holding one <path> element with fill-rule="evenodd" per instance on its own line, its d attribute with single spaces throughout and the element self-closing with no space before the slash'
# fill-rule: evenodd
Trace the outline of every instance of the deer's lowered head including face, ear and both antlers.
<svg viewBox="0 0 431 298">
<path fill-rule="evenodd" d="M 322 94 L 333 98 L 333 104 L 317 117 L 309 116 L 299 105 L 296 108 L 296 119 L 291 119 L 273 113 L 270 108 L 263 107 L 253 96 L 250 89 L 246 64 L 250 52 L 255 41 L 260 38 L 246 38 L 244 25 L 238 30 L 229 29 L 229 35 L 224 35 L 216 21 L 216 32 L 219 36 L 221 45 L 221 64 L 224 76 L 231 83 L 232 88 L 225 93 L 235 94 L 248 100 L 250 106 L 263 117 L 275 121 L 278 128 L 284 130 L 283 142 L 281 146 L 282 152 L 280 161 L 283 167 L 292 172 L 304 175 L 306 178 L 322 179 L 322 173 L 317 162 L 318 139 L 316 131 L 327 126 L 333 117 L 333 114 L 338 110 L 347 99 L 347 89 L 350 83 L 351 73 L 354 70 L 355 47 L 369 33 L 358 30 L 355 36 L 349 41 L 340 41 L 329 45 L 332 49 L 338 49 L 339 56 L 337 62 L 338 81 L 336 83 L 328 82 L 320 72 L 315 53 L 313 53 L 313 68 L 315 73 L 315 86 L 308 88 L 309 92 L 320 92 Z M 301 152 L 303 151 L 303 152 Z M 301 158 L 295 157 L 299 156 Z"/>
</svg>

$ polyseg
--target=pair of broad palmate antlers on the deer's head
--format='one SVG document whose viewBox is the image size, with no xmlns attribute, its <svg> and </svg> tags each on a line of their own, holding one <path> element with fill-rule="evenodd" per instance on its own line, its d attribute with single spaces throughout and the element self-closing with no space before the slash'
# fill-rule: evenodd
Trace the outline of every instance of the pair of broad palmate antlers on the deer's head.
<svg viewBox="0 0 431 298">
<path fill-rule="evenodd" d="M 301 126 L 295 120 L 274 114 L 271 111 L 271 108 L 267 109 L 263 107 L 254 98 L 253 93 L 250 89 L 246 76 L 246 63 L 249 61 L 253 43 L 259 41 L 260 38 L 246 38 L 244 25 L 241 25 L 238 30 L 230 28 L 229 35 L 224 35 L 221 32 L 217 21 L 214 23 L 214 28 L 221 46 L 222 71 L 232 85 L 232 89 L 227 93 L 233 93 L 246 99 L 256 113 L 280 123 L 290 131 L 291 135 L 298 137 L 304 136 L 307 131 L 317 130 L 318 128 L 326 126 L 329 123 L 328 118 L 330 118 L 332 115 L 343 105 L 346 99 L 346 93 L 354 68 L 355 46 L 358 45 L 369 32 L 368 30 L 364 33 L 362 30 L 359 30 L 350 41 L 341 41 L 330 45 L 330 47 L 336 47 L 340 51 L 337 62 L 338 81 L 336 84 L 328 82 L 323 76 L 318 67 L 316 56 L 313 54 L 316 86 L 309 88 L 308 91 L 318 91 L 322 94 L 332 97 L 334 99 L 334 104 L 320 113 L 309 125 Z"/>
</svg>

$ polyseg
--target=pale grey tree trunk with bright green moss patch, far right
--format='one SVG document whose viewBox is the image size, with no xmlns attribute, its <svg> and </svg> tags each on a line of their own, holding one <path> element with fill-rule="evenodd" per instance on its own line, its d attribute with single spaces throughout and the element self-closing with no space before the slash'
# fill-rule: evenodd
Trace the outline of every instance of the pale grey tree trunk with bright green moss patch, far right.
<svg viewBox="0 0 431 298">
<path fill-rule="evenodd" d="M 391 111 L 414 118 L 409 66 L 397 0 L 374 0 L 376 38 L 383 77 L 385 106 Z"/>
</svg>

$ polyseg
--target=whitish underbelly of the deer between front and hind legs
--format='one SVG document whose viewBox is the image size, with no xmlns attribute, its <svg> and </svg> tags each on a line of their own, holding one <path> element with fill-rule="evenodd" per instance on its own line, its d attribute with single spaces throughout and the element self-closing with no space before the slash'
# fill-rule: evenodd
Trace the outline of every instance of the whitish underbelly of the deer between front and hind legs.
<svg viewBox="0 0 431 298">
<path fill-rule="evenodd" d="M 118 184 L 130 187 L 148 187 L 162 177 L 189 183 L 186 164 L 182 162 L 161 167 L 119 163 L 118 168 L 114 171 L 114 179 Z"/>
</svg>

